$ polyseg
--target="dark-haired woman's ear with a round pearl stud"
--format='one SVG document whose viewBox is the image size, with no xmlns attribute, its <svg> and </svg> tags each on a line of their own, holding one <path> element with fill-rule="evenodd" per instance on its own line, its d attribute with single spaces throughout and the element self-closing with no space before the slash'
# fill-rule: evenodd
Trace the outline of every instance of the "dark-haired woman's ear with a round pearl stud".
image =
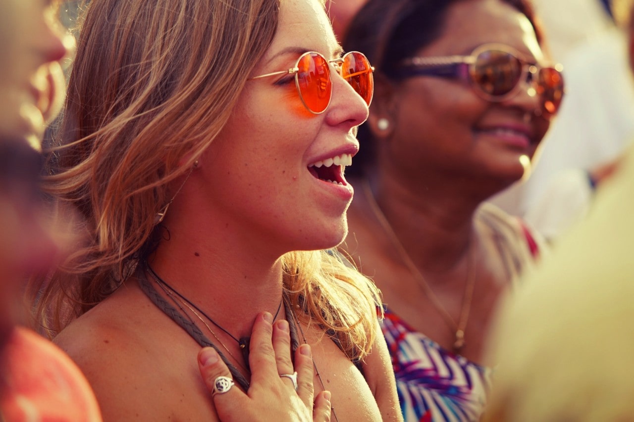
<svg viewBox="0 0 634 422">
<path fill-rule="evenodd" d="M 375 74 L 374 97 L 367 123 L 375 139 L 387 140 L 394 134 L 397 104 L 394 84 L 383 75 Z"/>
</svg>

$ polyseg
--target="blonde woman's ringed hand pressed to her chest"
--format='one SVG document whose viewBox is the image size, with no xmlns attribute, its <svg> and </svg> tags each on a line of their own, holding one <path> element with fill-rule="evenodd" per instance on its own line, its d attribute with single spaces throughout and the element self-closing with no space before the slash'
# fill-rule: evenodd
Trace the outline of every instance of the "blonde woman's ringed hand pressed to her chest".
<svg viewBox="0 0 634 422">
<path fill-rule="evenodd" d="M 222 421 L 330 421 L 330 392 L 317 395 L 313 404 L 313 359 L 311 348 L 303 344 L 295 352 L 295 368 L 290 359 L 288 322 L 277 321 L 263 312 L 256 318 L 250 341 L 249 392 L 231 387 L 225 393 L 212 393 L 216 412 Z M 219 376 L 231 378 L 229 369 L 216 350 L 205 347 L 198 352 L 200 374 L 214 392 Z M 287 376 L 297 371 L 297 392 Z"/>
</svg>

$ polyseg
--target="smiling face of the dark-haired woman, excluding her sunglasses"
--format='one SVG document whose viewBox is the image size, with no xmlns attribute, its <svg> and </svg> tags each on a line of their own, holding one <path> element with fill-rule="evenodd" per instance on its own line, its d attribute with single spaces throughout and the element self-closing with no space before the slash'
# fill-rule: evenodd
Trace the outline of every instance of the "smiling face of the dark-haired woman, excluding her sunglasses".
<svg viewBox="0 0 634 422">
<path fill-rule="evenodd" d="M 441 36 L 417 56 L 468 55 L 482 44 L 500 43 L 527 61 L 545 60 L 526 16 L 498 0 L 461 1 L 448 10 Z M 396 168 L 427 180 L 459 177 L 502 189 L 524 174 L 548 129 L 536 117 L 538 97 L 522 81 L 519 93 L 488 101 L 461 79 L 415 76 L 396 88 L 398 109 L 390 159 Z M 493 193 L 493 192 L 492 192 Z"/>
</svg>

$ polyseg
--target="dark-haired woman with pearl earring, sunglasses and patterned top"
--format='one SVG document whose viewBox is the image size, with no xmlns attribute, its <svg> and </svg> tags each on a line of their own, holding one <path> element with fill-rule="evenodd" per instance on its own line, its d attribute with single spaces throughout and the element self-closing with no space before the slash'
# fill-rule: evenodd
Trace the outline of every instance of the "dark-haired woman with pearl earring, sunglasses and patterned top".
<svg viewBox="0 0 634 422">
<path fill-rule="evenodd" d="M 344 246 L 383 293 L 406 420 L 484 409 L 493 309 L 541 250 L 486 200 L 521 179 L 559 108 L 542 45 L 523 1 L 370 0 L 347 29 L 377 70 Z"/>
</svg>

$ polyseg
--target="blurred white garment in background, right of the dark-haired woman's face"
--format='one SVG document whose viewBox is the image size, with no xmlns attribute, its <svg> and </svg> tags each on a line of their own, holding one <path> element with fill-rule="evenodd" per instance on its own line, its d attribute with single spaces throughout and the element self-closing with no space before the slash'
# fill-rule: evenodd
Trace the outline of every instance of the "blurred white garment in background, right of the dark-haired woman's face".
<svg viewBox="0 0 634 422">
<path fill-rule="evenodd" d="M 575 210 L 561 198 L 549 202 L 545 195 L 552 195 L 553 181 L 566 177 L 562 173 L 590 170 L 614 160 L 629 144 L 634 134 L 634 81 L 628 66 L 625 37 L 615 27 L 567 54 L 566 97 L 541 143 L 533 173 L 527 181 L 492 198 L 496 205 L 509 214 L 521 215 L 549 237 L 560 230 L 552 224 L 541 226 L 542 222 L 552 222 L 545 214 L 559 214 L 557 218 L 566 221 L 564 214 L 576 219 L 583 212 L 587 204 L 580 204 Z M 578 189 L 578 184 L 569 186 Z M 562 187 L 565 186 L 559 186 Z M 559 195 L 565 197 L 574 192 L 560 191 Z M 562 205 L 566 209 L 558 208 Z"/>
</svg>

